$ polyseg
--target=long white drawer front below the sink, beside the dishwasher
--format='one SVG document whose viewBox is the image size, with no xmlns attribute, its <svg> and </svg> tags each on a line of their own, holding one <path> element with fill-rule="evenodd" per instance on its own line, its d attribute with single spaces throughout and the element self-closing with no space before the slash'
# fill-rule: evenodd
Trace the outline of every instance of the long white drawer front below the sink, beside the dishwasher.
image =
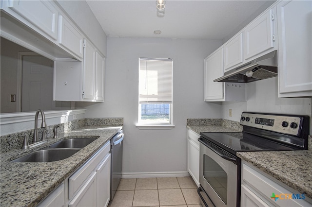
<svg viewBox="0 0 312 207">
<path fill-rule="evenodd" d="M 103 148 L 93 155 L 85 164 L 83 164 L 77 171 L 68 179 L 68 199 L 71 199 L 81 185 L 89 177 L 89 175 L 96 171 L 96 167 L 102 159 L 110 152 L 110 141 L 108 141 Z"/>
</svg>

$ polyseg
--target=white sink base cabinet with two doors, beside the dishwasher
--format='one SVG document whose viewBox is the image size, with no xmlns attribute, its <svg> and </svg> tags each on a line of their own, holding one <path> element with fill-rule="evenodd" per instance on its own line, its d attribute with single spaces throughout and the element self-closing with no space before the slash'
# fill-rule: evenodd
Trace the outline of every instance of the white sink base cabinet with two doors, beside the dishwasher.
<svg viewBox="0 0 312 207">
<path fill-rule="evenodd" d="M 68 206 L 107 206 L 110 200 L 110 141 L 68 178 Z"/>
</svg>

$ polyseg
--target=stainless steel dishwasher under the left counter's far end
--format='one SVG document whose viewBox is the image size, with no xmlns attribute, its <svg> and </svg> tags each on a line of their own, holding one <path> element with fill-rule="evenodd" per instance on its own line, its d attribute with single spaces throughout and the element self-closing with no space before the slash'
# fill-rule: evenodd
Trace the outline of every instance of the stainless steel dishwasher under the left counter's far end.
<svg viewBox="0 0 312 207">
<path fill-rule="evenodd" d="M 111 138 L 111 200 L 113 200 L 122 175 L 123 130 Z"/>
</svg>

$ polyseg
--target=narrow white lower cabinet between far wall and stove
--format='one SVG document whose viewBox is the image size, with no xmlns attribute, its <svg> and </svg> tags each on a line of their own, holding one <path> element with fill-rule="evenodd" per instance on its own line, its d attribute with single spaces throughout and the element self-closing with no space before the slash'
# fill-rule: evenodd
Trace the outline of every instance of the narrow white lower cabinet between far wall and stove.
<svg viewBox="0 0 312 207">
<path fill-rule="evenodd" d="M 187 130 L 187 170 L 199 187 L 199 135 Z"/>
</svg>

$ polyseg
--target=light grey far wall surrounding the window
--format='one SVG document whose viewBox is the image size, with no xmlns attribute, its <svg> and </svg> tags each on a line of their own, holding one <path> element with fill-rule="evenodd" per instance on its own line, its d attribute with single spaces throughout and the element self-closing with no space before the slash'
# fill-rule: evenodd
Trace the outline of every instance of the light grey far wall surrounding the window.
<svg viewBox="0 0 312 207">
<path fill-rule="evenodd" d="M 221 41 L 164 38 L 107 38 L 105 102 L 76 103 L 86 118 L 123 117 L 123 173 L 186 172 L 187 118 L 220 118 L 221 104 L 203 101 L 204 58 Z M 138 58 L 173 58 L 171 130 L 139 130 Z"/>
</svg>

